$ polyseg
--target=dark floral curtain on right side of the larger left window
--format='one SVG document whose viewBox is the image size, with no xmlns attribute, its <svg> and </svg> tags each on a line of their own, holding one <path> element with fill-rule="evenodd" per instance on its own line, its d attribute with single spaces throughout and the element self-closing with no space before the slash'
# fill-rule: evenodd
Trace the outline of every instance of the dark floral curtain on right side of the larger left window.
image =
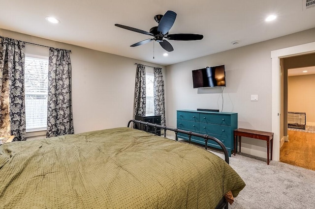
<svg viewBox="0 0 315 209">
<path fill-rule="evenodd" d="M 72 134 L 70 52 L 49 49 L 47 137 Z"/>
</svg>

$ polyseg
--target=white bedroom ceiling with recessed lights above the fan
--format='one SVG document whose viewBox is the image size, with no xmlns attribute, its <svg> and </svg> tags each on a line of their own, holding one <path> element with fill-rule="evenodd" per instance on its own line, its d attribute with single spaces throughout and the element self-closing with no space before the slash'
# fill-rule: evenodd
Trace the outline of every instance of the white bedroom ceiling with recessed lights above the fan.
<svg viewBox="0 0 315 209">
<path fill-rule="evenodd" d="M 169 65 L 315 27 L 315 7 L 306 0 L 1 0 L 0 28 L 102 52 Z M 172 33 L 203 34 L 200 41 L 169 41 L 174 51 L 164 57 L 155 43 L 130 45 L 151 36 L 114 26 L 149 31 L 154 16 L 177 13 Z M 264 19 L 275 14 L 274 22 Z M 46 16 L 58 18 L 53 25 Z M 231 42 L 238 40 L 238 45 Z"/>
</svg>

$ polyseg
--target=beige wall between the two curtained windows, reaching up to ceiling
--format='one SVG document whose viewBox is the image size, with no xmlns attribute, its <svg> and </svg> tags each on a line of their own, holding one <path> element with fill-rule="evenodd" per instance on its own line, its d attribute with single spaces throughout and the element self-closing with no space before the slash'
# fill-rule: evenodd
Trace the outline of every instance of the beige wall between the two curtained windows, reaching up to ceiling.
<svg viewBox="0 0 315 209">
<path fill-rule="evenodd" d="M 35 44 L 71 50 L 72 105 L 75 133 L 126 127 L 133 117 L 136 65 L 123 56 L 98 52 L 0 29 L 0 35 Z M 165 69 L 163 69 L 165 75 Z"/>
</svg>

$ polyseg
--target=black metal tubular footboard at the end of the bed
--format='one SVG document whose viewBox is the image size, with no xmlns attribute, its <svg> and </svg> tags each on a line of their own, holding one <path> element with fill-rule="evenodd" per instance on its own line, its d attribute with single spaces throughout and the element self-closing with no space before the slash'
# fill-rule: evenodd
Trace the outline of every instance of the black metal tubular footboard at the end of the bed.
<svg viewBox="0 0 315 209">
<path fill-rule="evenodd" d="M 184 130 L 180 130 L 180 129 L 173 129 L 173 128 L 169 128 L 169 127 L 166 127 L 166 126 L 161 126 L 161 125 L 157 125 L 157 124 L 153 124 L 153 123 L 148 123 L 148 122 L 143 122 L 143 121 L 138 121 L 138 120 L 130 120 L 128 122 L 128 125 L 127 127 L 130 126 L 130 123 L 133 122 L 133 128 L 135 128 L 135 124 L 138 123 L 139 126 L 140 124 L 143 124 L 144 125 L 144 128 L 146 129 L 146 131 L 149 130 L 149 126 L 153 127 L 154 128 L 154 131 L 155 133 L 157 133 L 157 129 L 162 129 L 164 130 L 164 137 L 166 137 L 166 130 L 169 130 L 169 131 L 174 131 L 175 132 L 175 140 L 178 141 L 178 133 L 184 133 L 184 134 L 187 134 L 188 137 L 189 137 L 189 144 L 190 144 L 190 139 L 191 139 L 191 136 L 197 136 L 197 137 L 200 137 L 200 138 L 203 138 L 205 140 L 205 149 L 207 150 L 208 149 L 208 140 L 212 140 L 212 141 L 215 141 L 217 142 L 220 147 L 222 148 L 223 152 L 224 152 L 224 160 L 225 162 L 227 162 L 227 164 L 229 163 L 229 158 L 228 158 L 228 152 L 227 152 L 227 149 L 226 147 L 224 146 L 224 144 L 219 140 L 217 139 L 216 137 L 213 137 L 213 136 L 209 136 L 207 134 L 200 134 L 200 133 L 195 133 L 195 132 L 192 132 L 192 131 L 184 131 Z"/>
</svg>

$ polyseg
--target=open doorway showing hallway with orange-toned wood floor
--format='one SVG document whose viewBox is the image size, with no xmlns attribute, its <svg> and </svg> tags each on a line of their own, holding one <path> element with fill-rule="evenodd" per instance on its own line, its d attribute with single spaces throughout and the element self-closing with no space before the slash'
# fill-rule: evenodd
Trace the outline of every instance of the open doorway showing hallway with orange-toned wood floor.
<svg viewBox="0 0 315 209">
<path fill-rule="evenodd" d="M 285 109 L 284 143 L 280 161 L 315 170 L 315 53 L 282 58 L 284 71 L 281 107 Z M 293 68 L 291 68 L 293 66 Z M 286 119 L 286 120 L 285 120 Z"/>
</svg>

